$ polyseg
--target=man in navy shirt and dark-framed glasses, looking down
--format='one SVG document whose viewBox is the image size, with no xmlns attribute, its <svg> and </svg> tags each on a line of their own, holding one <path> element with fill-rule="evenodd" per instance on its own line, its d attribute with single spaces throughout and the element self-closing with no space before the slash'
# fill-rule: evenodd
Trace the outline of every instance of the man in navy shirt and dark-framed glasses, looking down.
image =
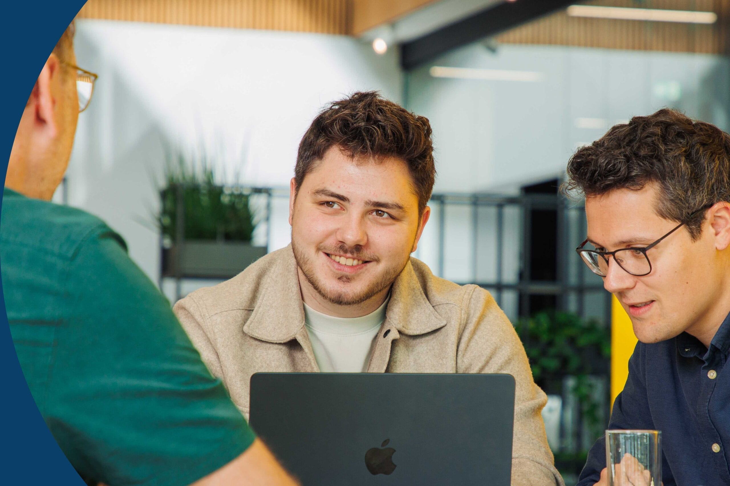
<svg viewBox="0 0 730 486">
<path fill-rule="evenodd" d="M 662 432 L 665 486 L 730 485 L 730 136 L 663 109 L 579 149 L 567 173 L 585 195 L 577 252 L 639 339 L 609 428 Z M 607 485 L 605 466 L 602 437 L 578 486 Z"/>
</svg>

